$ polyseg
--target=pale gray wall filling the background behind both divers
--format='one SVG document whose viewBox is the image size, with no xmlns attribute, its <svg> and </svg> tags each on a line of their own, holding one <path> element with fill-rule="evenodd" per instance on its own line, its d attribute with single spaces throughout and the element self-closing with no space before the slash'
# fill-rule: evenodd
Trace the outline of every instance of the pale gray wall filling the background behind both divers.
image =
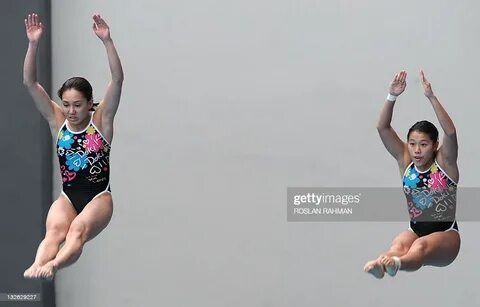
<svg viewBox="0 0 480 307">
<path fill-rule="evenodd" d="M 112 154 L 115 212 L 58 274 L 58 306 L 452 306 L 479 300 L 473 235 L 459 258 L 395 280 L 364 263 L 405 223 L 287 223 L 289 186 L 399 186 L 375 131 L 409 71 L 394 127 L 437 122 L 425 69 L 476 172 L 480 46 L 472 1 L 56 1 L 53 86 L 109 78 L 102 13 L 125 69 Z M 75 18 L 66 12 L 75 12 Z M 58 193 L 58 187 L 55 189 Z M 385 204 L 385 206 L 404 204 Z M 471 305 L 471 303 L 470 303 Z"/>
</svg>

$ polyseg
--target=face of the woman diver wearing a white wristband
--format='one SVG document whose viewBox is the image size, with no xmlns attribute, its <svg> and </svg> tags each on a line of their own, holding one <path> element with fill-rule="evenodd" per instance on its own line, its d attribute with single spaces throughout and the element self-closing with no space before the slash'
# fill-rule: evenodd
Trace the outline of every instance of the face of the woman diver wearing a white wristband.
<svg viewBox="0 0 480 307">
<path fill-rule="evenodd" d="M 428 134 L 412 131 L 408 139 L 408 152 L 415 166 L 425 169 L 432 164 L 438 142 L 433 142 Z"/>
</svg>

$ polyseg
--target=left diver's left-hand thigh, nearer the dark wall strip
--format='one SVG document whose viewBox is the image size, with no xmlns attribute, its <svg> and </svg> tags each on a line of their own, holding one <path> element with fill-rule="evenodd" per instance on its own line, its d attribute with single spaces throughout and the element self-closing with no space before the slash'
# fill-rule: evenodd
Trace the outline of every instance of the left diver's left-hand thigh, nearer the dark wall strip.
<svg viewBox="0 0 480 307">
<path fill-rule="evenodd" d="M 77 211 L 75 211 L 70 201 L 65 196 L 60 195 L 48 210 L 46 221 L 47 232 L 59 228 L 67 231 L 76 216 Z"/>
</svg>

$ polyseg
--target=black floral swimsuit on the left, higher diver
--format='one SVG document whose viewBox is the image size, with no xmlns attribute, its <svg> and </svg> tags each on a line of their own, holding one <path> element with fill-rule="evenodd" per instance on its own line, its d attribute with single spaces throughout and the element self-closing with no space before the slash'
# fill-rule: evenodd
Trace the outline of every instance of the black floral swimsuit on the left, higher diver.
<svg viewBox="0 0 480 307">
<path fill-rule="evenodd" d="M 110 144 L 93 124 L 93 114 L 80 132 L 71 131 L 65 121 L 56 147 L 62 192 L 77 213 L 99 194 L 110 192 Z"/>
</svg>

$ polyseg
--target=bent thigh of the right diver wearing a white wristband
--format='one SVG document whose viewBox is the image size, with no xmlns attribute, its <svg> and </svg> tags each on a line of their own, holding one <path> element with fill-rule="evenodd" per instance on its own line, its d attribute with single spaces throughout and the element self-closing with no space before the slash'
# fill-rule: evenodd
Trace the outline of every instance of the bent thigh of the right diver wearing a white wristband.
<svg viewBox="0 0 480 307">
<path fill-rule="evenodd" d="M 424 245 L 425 265 L 446 266 L 458 255 L 460 234 L 454 230 L 434 232 L 421 237 L 414 244 Z"/>
</svg>

